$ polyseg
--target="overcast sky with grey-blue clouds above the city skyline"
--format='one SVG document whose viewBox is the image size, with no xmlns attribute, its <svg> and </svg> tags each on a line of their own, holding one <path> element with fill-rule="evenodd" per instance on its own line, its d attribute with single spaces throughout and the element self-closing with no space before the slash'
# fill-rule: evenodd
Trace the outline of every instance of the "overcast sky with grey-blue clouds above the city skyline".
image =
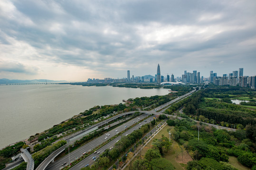
<svg viewBox="0 0 256 170">
<path fill-rule="evenodd" d="M 0 0 L 0 78 L 256 75 L 256 0 Z"/>
</svg>

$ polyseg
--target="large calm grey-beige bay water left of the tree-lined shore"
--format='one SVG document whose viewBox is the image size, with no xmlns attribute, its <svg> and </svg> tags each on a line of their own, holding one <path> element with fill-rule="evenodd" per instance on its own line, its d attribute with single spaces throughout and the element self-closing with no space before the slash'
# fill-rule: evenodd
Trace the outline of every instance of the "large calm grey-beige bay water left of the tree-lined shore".
<svg viewBox="0 0 256 170">
<path fill-rule="evenodd" d="M 96 105 L 165 95 L 168 89 L 80 85 L 0 85 L 0 148 L 40 133 Z"/>
</svg>

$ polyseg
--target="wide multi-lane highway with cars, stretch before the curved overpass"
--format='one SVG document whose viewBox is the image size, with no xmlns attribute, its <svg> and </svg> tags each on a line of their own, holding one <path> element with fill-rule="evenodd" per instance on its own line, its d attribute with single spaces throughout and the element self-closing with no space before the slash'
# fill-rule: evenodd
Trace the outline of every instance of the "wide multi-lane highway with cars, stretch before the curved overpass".
<svg viewBox="0 0 256 170">
<path fill-rule="evenodd" d="M 102 144 L 104 141 L 106 141 L 106 139 L 109 139 L 109 138 L 113 137 L 114 135 L 116 135 L 117 132 L 123 131 L 125 128 L 132 126 L 132 125 L 133 125 L 134 123 L 136 123 L 138 120 L 144 119 L 146 116 L 147 116 L 146 114 L 142 114 L 141 116 L 139 116 L 139 117 L 137 117 L 137 118 L 135 118 L 135 119 L 132 119 L 132 120 L 126 122 L 126 123 L 123 124 L 122 126 L 116 127 L 116 128 L 114 128 L 113 130 L 107 132 L 106 134 L 109 134 L 109 136 L 106 136 L 106 135 L 99 136 L 99 137 L 96 138 L 95 140 L 93 140 L 93 141 L 91 141 L 91 142 L 85 144 L 84 146 L 82 146 L 82 147 L 76 149 L 75 151 L 73 151 L 72 153 L 70 153 L 70 155 L 69 155 L 70 161 L 76 160 L 77 158 L 81 157 L 81 156 L 83 155 L 83 153 L 88 152 L 90 149 L 91 149 L 91 150 L 94 149 L 96 146 L 98 146 L 98 145 Z M 131 133 L 134 128 L 139 128 L 140 125 L 142 125 L 142 124 L 144 124 L 144 123 L 147 123 L 147 122 L 144 122 L 144 121 L 143 121 L 141 124 L 138 124 L 137 126 L 133 127 L 132 130 L 130 129 L 130 130 L 127 131 L 127 133 L 125 132 L 124 135 L 126 135 L 126 134 L 128 134 L 128 133 Z M 126 126 L 126 127 L 125 127 L 125 126 Z M 107 138 L 106 138 L 106 137 L 107 137 Z M 106 139 L 105 139 L 105 138 L 106 138 Z M 118 137 L 117 137 L 116 139 L 114 139 L 112 142 L 106 144 L 106 145 L 103 147 L 103 148 L 104 148 L 103 151 L 106 149 L 105 147 L 109 147 L 109 148 L 110 148 L 110 147 L 111 147 L 110 145 L 113 144 L 113 143 L 115 144 L 115 142 L 116 142 L 117 140 L 119 140 L 120 138 L 121 138 L 121 136 L 118 136 Z M 114 144 L 113 144 L 113 145 L 114 145 Z M 99 149 L 99 152 L 102 152 L 102 148 Z M 86 164 L 90 164 L 90 163 L 92 163 L 92 161 L 93 161 L 93 160 L 92 160 L 92 157 L 93 157 L 93 156 L 98 156 L 98 154 L 92 154 L 92 155 L 88 156 L 88 157 L 85 159 L 86 161 L 85 161 L 85 160 L 81 161 L 81 162 L 83 162 L 82 164 L 85 164 L 85 163 L 86 163 Z M 90 159 L 89 159 L 89 158 L 90 158 Z M 89 160 L 89 161 L 88 161 L 88 160 Z M 57 170 L 57 169 L 60 169 L 61 167 L 63 167 L 62 164 L 63 164 L 64 162 L 66 162 L 66 163 L 69 162 L 68 155 L 66 155 L 65 157 L 63 157 L 63 158 L 61 158 L 61 159 L 59 159 L 59 160 L 57 160 L 57 161 L 55 161 L 55 162 L 53 162 L 53 163 L 50 163 L 50 164 L 47 166 L 46 170 Z M 80 164 L 80 163 L 78 163 L 78 164 Z M 64 166 L 65 166 L 65 165 L 64 165 Z M 78 165 L 76 165 L 76 166 L 78 166 Z M 76 166 L 74 166 L 74 167 L 76 167 Z M 79 169 L 79 170 L 80 170 L 80 169 Z"/>
</svg>

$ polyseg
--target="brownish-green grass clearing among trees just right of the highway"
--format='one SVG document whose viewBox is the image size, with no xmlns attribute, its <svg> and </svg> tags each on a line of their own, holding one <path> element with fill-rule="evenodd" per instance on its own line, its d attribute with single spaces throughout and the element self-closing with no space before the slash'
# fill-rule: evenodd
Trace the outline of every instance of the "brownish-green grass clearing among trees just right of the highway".
<svg viewBox="0 0 256 170">
<path fill-rule="evenodd" d="M 142 149 L 142 157 L 145 155 L 146 151 L 148 149 L 150 149 L 152 147 L 152 143 L 155 139 L 160 139 L 162 135 L 164 135 L 165 137 L 169 138 L 169 134 L 167 132 L 167 129 L 169 128 L 173 128 L 173 127 L 170 127 L 168 125 L 166 125 L 143 149 Z M 175 141 L 172 141 L 172 145 L 176 143 Z M 139 159 L 140 157 L 140 154 L 138 154 L 134 159 L 133 159 L 133 162 L 136 161 L 137 159 Z M 184 170 L 182 168 L 182 166 L 184 167 L 185 164 L 183 163 L 178 163 L 175 161 L 176 159 L 176 153 L 175 151 L 172 149 L 171 147 L 171 151 L 169 151 L 168 154 L 165 154 L 164 155 L 164 158 L 171 161 L 171 164 L 175 167 L 175 170 Z M 132 162 L 132 164 L 133 164 Z M 129 170 L 129 166 L 127 166 L 124 170 Z"/>
</svg>

